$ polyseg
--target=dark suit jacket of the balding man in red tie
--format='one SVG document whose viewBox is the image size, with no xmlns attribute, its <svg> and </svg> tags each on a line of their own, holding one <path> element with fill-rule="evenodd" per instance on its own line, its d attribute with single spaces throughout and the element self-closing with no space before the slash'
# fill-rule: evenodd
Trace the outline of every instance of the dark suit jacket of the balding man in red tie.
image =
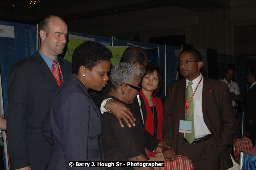
<svg viewBox="0 0 256 170">
<path fill-rule="evenodd" d="M 71 63 L 63 58 L 58 60 L 65 81 L 71 72 Z M 38 52 L 11 68 L 7 84 L 7 133 L 12 169 L 45 168 L 51 146 L 40 126 L 57 88 L 56 80 Z"/>
</svg>

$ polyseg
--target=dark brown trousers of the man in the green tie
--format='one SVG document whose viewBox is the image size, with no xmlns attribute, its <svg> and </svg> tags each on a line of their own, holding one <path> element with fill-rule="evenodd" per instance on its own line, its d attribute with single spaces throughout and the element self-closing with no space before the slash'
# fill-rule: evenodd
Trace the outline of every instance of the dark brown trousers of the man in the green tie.
<svg viewBox="0 0 256 170">
<path fill-rule="evenodd" d="M 221 168 L 220 149 L 213 137 L 196 144 L 184 141 L 183 155 L 192 161 L 195 170 L 219 170 Z"/>
</svg>

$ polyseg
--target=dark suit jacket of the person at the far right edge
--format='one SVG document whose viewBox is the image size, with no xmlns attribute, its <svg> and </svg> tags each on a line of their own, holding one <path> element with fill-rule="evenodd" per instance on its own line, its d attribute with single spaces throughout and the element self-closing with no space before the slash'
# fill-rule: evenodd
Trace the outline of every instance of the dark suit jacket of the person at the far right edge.
<svg viewBox="0 0 256 170">
<path fill-rule="evenodd" d="M 248 91 L 245 97 L 245 118 L 252 119 L 256 123 L 256 84 Z"/>
</svg>

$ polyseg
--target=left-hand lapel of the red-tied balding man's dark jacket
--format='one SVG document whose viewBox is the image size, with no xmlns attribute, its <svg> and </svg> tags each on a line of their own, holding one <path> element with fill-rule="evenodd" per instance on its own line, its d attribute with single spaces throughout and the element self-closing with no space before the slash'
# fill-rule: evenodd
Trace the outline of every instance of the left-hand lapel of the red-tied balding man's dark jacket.
<svg viewBox="0 0 256 170">
<path fill-rule="evenodd" d="M 35 56 L 36 62 L 39 65 L 39 70 L 41 71 L 42 75 L 45 77 L 45 80 L 47 80 L 52 85 L 53 88 L 58 88 L 58 83 L 53 77 L 51 70 L 47 66 L 42 56 L 38 52 L 36 52 L 34 56 Z"/>
</svg>

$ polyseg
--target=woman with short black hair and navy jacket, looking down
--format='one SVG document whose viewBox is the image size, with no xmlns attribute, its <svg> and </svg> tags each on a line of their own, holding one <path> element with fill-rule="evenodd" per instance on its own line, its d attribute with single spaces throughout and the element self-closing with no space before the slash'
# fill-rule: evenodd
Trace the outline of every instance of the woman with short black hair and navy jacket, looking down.
<svg viewBox="0 0 256 170">
<path fill-rule="evenodd" d="M 73 74 L 59 86 L 41 126 L 52 145 L 46 169 L 68 169 L 70 160 L 104 160 L 99 138 L 102 118 L 88 89 L 100 91 L 106 86 L 111 57 L 109 49 L 94 41 L 75 49 Z"/>
</svg>

